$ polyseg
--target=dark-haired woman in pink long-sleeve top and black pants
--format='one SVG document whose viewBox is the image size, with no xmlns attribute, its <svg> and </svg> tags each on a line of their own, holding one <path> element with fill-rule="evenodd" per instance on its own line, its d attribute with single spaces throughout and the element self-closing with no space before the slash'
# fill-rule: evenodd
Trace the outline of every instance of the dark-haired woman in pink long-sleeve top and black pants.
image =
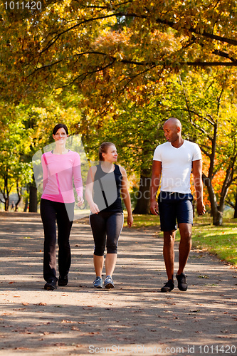
<svg viewBox="0 0 237 356">
<path fill-rule="evenodd" d="M 58 124 L 53 129 L 55 150 L 42 155 L 43 194 L 41 197 L 41 219 L 44 229 L 43 278 L 47 290 L 68 284 L 71 255 L 69 236 L 73 225 L 74 192 L 78 206 L 83 200 L 83 181 L 80 172 L 80 155 L 65 148 L 68 127 Z M 58 271 L 56 277 L 56 221 L 58 225 Z"/>
</svg>

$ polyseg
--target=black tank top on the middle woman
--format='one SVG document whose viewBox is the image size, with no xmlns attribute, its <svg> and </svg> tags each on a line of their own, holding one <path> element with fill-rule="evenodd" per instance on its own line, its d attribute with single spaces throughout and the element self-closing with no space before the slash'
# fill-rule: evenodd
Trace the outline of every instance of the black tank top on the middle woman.
<svg viewBox="0 0 237 356">
<path fill-rule="evenodd" d="M 122 211 L 120 167 L 115 164 L 115 170 L 110 173 L 103 172 L 100 164 L 96 167 L 93 187 L 95 204 L 100 211 Z"/>
</svg>

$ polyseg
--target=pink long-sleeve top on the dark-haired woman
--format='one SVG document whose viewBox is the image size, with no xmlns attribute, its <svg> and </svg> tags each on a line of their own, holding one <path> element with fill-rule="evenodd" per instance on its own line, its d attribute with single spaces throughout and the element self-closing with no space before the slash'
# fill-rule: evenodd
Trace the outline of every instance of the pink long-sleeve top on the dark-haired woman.
<svg viewBox="0 0 237 356">
<path fill-rule="evenodd" d="M 41 157 L 43 167 L 42 199 L 73 203 L 73 181 L 78 197 L 83 197 L 83 180 L 80 170 L 80 155 L 68 151 L 65 155 L 46 152 Z"/>
</svg>

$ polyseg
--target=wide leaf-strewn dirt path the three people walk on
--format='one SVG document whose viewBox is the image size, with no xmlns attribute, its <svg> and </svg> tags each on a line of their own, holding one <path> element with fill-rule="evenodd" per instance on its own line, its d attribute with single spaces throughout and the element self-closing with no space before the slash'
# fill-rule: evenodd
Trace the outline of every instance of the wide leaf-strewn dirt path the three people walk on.
<svg viewBox="0 0 237 356">
<path fill-rule="evenodd" d="M 92 234 L 78 221 L 69 284 L 51 292 L 40 216 L 0 213 L 0 236 L 0 355 L 237 355 L 237 273 L 216 258 L 191 251 L 189 289 L 160 293 L 162 239 L 125 228 L 115 288 L 95 290 Z"/>
</svg>

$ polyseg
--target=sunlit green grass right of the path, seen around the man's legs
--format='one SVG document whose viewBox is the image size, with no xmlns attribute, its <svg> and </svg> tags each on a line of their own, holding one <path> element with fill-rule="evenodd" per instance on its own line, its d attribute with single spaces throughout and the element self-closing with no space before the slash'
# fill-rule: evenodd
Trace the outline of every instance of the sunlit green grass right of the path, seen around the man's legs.
<svg viewBox="0 0 237 356">
<path fill-rule="evenodd" d="M 159 217 L 134 215 L 133 228 L 159 226 Z M 126 219 L 125 219 L 126 223 Z M 125 224 L 126 226 L 127 224 Z M 222 226 L 214 226 L 209 216 L 194 218 L 192 244 L 194 248 L 208 251 L 237 267 L 237 220 L 223 219 Z M 157 231 L 158 232 L 158 231 Z M 179 241 L 179 230 L 177 241 Z"/>
</svg>

